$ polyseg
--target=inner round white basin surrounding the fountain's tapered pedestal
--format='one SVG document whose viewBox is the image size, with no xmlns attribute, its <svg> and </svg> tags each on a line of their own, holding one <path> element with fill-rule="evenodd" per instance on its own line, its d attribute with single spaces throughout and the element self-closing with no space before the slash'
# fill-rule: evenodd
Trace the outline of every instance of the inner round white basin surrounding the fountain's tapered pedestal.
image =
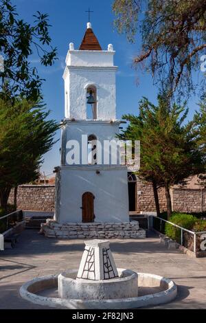
<svg viewBox="0 0 206 323">
<path fill-rule="evenodd" d="M 60 298 L 78 300 L 137 297 L 137 273 L 130 269 L 117 269 L 117 272 L 117 278 L 88 280 L 73 277 L 71 271 L 65 271 L 58 276 L 58 295 Z"/>
</svg>

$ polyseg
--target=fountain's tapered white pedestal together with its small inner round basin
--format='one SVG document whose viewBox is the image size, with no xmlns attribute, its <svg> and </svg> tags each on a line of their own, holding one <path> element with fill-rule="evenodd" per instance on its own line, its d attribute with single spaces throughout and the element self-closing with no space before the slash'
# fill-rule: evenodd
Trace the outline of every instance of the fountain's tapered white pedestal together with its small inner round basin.
<svg viewBox="0 0 206 323">
<path fill-rule="evenodd" d="M 137 273 L 117 269 L 109 241 L 86 241 L 77 278 L 71 278 L 69 271 L 60 274 L 58 294 L 60 298 L 78 300 L 137 297 Z"/>
</svg>

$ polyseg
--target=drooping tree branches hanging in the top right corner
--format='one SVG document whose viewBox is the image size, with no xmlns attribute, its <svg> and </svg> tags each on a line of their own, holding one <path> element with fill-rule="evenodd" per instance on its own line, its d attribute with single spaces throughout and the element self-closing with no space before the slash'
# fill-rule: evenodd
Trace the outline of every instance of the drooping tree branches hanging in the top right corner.
<svg viewBox="0 0 206 323">
<path fill-rule="evenodd" d="M 192 71 L 199 71 L 206 48 L 206 0 L 114 0 L 115 27 L 128 41 L 141 36 L 133 60 L 144 63 L 161 88 L 181 96 L 196 88 Z M 204 80 L 202 87 L 204 87 Z"/>
</svg>

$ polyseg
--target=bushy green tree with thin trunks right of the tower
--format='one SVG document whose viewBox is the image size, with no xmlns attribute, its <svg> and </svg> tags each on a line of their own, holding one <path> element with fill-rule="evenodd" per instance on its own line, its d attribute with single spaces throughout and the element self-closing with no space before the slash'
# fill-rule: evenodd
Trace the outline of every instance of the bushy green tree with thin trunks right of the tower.
<svg viewBox="0 0 206 323">
<path fill-rule="evenodd" d="M 120 137 L 140 140 L 141 166 L 137 175 L 155 184 L 156 205 L 157 186 L 165 188 L 168 219 L 172 213 L 171 186 L 204 169 L 203 153 L 197 143 L 198 131 L 194 121 L 185 123 L 187 112 L 185 106 L 170 105 L 164 96 L 159 96 L 157 106 L 144 98 L 139 115 L 123 116 L 130 123 Z"/>
</svg>

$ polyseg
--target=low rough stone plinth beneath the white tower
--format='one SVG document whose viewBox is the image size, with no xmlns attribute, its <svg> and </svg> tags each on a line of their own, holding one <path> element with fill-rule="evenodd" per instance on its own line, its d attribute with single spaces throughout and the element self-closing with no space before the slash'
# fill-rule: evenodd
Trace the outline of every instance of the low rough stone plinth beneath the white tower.
<svg viewBox="0 0 206 323">
<path fill-rule="evenodd" d="M 122 223 L 65 223 L 60 224 L 52 219 L 41 223 L 41 234 L 48 238 L 81 239 L 81 238 L 146 238 L 146 231 L 139 228 L 138 221 Z"/>
</svg>

